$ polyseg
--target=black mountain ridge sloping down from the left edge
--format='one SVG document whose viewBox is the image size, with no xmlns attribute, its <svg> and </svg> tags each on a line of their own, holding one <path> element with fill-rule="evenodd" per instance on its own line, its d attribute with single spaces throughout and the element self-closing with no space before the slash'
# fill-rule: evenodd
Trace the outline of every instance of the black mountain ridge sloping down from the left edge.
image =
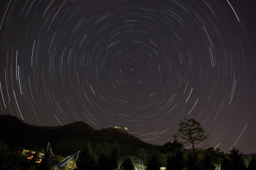
<svg viewBox="0 0 256 170">
<path fill-rule="evenodd" d="M 82 121 L 59 126 L 37 126 L 12 115 L 0 115 L 0 139 L 12 147 L 30 149 L 43 148 L 48 142 L 56 145 L 61 139 L 86 139 L 91 144 L 118 142 L 131 148 L 143 147 L 149 150 L 154 147 L 129 133 L 111 131 L 110 128 L 96 130 Z"/>
</svg>

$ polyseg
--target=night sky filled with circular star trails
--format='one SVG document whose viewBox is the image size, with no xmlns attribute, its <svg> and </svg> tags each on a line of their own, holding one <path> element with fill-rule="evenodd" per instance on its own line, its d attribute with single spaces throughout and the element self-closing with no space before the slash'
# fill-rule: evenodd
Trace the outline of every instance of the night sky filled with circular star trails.
<svg viewBox="0 0 256 170">
<path fill-rule="evenodd" d="M 123 125 L 196 147 L 256 152 L 256 2 L 8 0 L 0 9 L 0 114 L 32 125 Z M 178 139 L 179 141 L 181 139 Z"/>
</svg>

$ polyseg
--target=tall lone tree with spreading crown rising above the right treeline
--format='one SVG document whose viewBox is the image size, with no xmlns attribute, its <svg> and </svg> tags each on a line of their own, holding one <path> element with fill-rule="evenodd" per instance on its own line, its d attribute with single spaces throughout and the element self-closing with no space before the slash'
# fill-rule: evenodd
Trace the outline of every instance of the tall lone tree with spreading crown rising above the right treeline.
<svg viewBox="0 0 256 170">
<path fill-rule="evenodd" d="M 184 119 L 187 120 L 187 119 Z M 195 158 L 195 144 L 200 144 L 208 138 L 206 131 L 203 130 L 201 124 L 194 119 L 189 119 L 187 122 L 179 124 L 178 135 L 184 139 L 185 144 L 192 144 L 193 155 Z"/>
</svg>

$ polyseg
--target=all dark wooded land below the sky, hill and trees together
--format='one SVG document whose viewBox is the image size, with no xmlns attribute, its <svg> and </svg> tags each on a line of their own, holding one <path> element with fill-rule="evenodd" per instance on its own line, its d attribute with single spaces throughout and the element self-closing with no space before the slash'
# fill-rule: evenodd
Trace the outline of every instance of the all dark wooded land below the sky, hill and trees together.
<svg viewBox="0 0 256 170">
<path fill-rule="evenodd" d="M 22 155 L 24 147 L 46 151 L 48 142 L 52 146 L 56 163 L 80 150 L 75 169 L 135 169 L 135 163 L 132 163 L 129 158 L 118 166 L 119 158 L 124 155 L 140 158 L 147 170 L 159 170 L 160 167 L 166 167 L 167 170 L 256 169 L 255 155 L 243 155 L 235 147 L 228 154 L 213 147 L 195 148 L 195 144 L 203 142 L 208 136 L 200 123 L 193 119 L 180 123 L 178 134 L 174 135 L 173 142 L 155 146 L 141 142 L 140 139 L 129 134 L 108 129 L 96 131 L 84 123 L 72 123 L 70 126 L 64 126 L 63 130 L 63 126 L 38 127 L 28 125 L 15 117 L 5 118 L 0 117 L 0 169 L 2 170 L 52 169 L 50 152 L 45 153 L 41 163 L 37 163 L 38 152 L 30 160 Z M 69 134 L 67 131 L 74 132 Z M 178 142 L 178 137 L 182 139 L 182 143 Z M 184 144 L 191 145 L 189 148 L 192 149 L 185 149 Z M 75 157 L 72 161 L 75 161 Z M 61 169 L 66 169 L 66 166 Z"/>
</svg>

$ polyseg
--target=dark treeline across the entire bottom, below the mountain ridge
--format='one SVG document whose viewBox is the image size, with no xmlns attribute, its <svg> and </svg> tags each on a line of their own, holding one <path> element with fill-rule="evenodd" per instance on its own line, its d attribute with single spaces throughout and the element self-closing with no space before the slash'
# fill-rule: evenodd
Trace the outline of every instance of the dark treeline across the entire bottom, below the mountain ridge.
<svg viewBox="0 0 256 170">
<path fill-rule="evenodd" d="M 64 142 L 65 139 L 60 140 Z M 77 142 L 75 142 L 77 141 Z M 256 160 L 252 155 L 242 155 L 240 150 L 233 147 L 228 154 L 221 152 L 219 149 L 209 147 L 205 150 L 195 149 L 195 158 L 192 149 L 185 149 L 184 144 L 174 140 L 173 142 L 167 142 L 163 146 L 152 147 L 152 150 L 146 150 L 143 147 L 129 148 L 125 147 L 118 142 L 102 142 L 97 144 L 91 144 L 83 139 L 74 140 L 69 143 L 69 147 L 63 144 L 59 147 L 53 147 L 53 154 L 56 158 L 56 162 L 59 163 L 69 152 L 75 153 L 80 149 L 78 156 L 77 166 L 79 169 L 106 169 L 113 170 L 118 169 L 118 159 L 121 155 L 135 155 L 143 161 L 144 166 L 147 166 L 148 170 L 159 170 L 159 167 L 165 166 L 167 170 L 246 170 L 255 169 Z M 135 149 L 136 148 L 136 149 Z M 66 151 L 64 151 L 66 150 Z M 67 155 L 65 155 L 67 152 Z M 37 155 L 37 153 L 35 154 Z M 34 156 L 37 158 L 37 156 Z M 128 162 L 128 163 L 127 163 Z M 126 161 L 122 167 L 132 167 L 129 161 Z M 14 148 L 4 142 L 0 142 L 0 169 L 51 169 L 53 165 L 50 163 L 49 154 L 45 154 L 45 158 L 38 166 L 33 160 L 26 161 L 21 155 L 21 150 Z M 65 169 L 65 166 L 61 169 Z"/>
</svg>

